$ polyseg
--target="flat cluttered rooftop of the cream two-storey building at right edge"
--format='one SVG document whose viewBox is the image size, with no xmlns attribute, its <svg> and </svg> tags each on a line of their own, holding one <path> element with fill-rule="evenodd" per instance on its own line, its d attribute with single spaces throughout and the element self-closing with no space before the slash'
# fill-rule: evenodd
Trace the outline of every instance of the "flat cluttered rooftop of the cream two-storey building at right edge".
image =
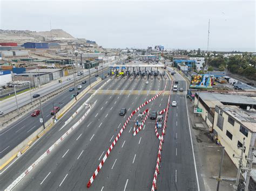
<svg viewBox="0 0 256 191">
<path fill-rule="evenodd" d="M 252 132 L 256 132 L 256 111 L 242 110 L 234 105 L 220 105 L 218 106 L 228 115 L 244 125 Z"/>
</svg>

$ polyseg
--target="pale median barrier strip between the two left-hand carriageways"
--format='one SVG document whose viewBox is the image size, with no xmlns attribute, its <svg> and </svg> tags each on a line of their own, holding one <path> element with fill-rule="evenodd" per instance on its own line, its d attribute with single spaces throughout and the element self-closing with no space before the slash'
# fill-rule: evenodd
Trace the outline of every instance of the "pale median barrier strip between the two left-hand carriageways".
<svg viewBox="0 0 256 191">
<path fill-rule="evenodd" d="M 107 68 L 104 68 L 104 70 L 106 70 L 106 69 L 107 69 Z M 96 72 L 93 72 L 93 73 L 91 73 L 91 74 L 94 75 L 94 74 L 96 74 L 96 73 L 97 73 L 97 71 L 96 71 Z M 80 83 L 80 82 L 84 81 L 84 80 L 87 79 L 87 78 L 89 78 L 89 76 L 82 77 L 82 78 L 80 78 L 79 80 L 77 80 L 76 83 Z M 46 95 L 42 96 L 41 98 L 38 98 L 37 100 L 33 101 L 33 103 L 34 103 L 33 105 L 31 105 L 31 103 L 27 103 L 27 104 L 25 104 L 25 105 L 22 105 L 21 107 L 19 107 L 19 110 L 24 110 L 24 111 L 21 111 L 18 115 L 9 118 L 7 121 L 5 121 L 4 123 L 2 123 L 1 125 L 4 126 L 4 125 L 10 123 L 11 121 L 13 121 L 14 119 L 16 119 L 16 118 L 18 118 L 18 117 L 24 115 L 25 113 L 27 113 L 27 112 L 30 111 L 31 109 L 36 108 L 36 107 L 40 104 L 39 99 L 41 99 L 41 102 L 43 103 L 43 102 L 45 102 L 46 100 L 49 100 L 49 98 L 52 98 L 52 97 L 58 95 L 59 93 L 62 93 L 63 91 L 68 90 L 70 87 L 73 87 L 73 83 L 69 83 L 69 84 L 67 84 L 67 85 L 65 85 L 65 86 L 63 86 L 63 87 L 61 87 L 61 88 L 59 88 L 58 90 L 55 90 L 54 92 L 51 92 L 51 93 L 49 93 L 49 94 L 46 94 Z M 79 95 L 79 94 L 78 94 L 78 95 Z M 7 114 L 5 114 L 5 115 L 3 115 L 3 116 L 1 116 L 1 118 L 8 117 L 8 116 L 14 114 L 14 112 L 16 112 L 16 109 L 13 110 L 13 111 L 8 112 Z"/>
</svg>

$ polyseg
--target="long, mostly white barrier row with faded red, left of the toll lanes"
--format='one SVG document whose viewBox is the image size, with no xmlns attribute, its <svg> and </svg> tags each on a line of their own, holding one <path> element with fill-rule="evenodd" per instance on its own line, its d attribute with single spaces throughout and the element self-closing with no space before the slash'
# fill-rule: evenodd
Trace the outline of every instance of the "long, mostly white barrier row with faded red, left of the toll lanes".
<svg viewBox="0 0 256 191">
<path fill-rule="evenodd" d="M 76 122 L 68 131 L 66 131 L 62 137 L 60 137 L 52 146 L 50 146 L 48 148 L 48 150 L 46 150 L 42 155 L 41 157 L 39 157 L 35 162 L 33 162 L 32 165 L 30 165 L 21 175 L 18 176 L 18 178 L 11 183 L 11 185 L 9 185 L 5 191 L 8 191 L 8 190 L 12 190 L 26 175 L 28 175 L 33 168 L 35 168 L 39 162 L 41 162 L 49 153 L 51 153 L 51 151 L 57 147 L 57 145 L 62 142 L 73 130 L 75 130 L 77 128 L 77 126 L 84 120 L 84 118 L 87 116 L 87 114 L 89 114 L 89 112 L 91 111 L 91 109 L 93 108 L 93 106 L 96 104 L 93 103 L 92 107 L 90 107 L 86 112 L 85 114 L 83 115 L 82 118 L 79 119 L 78 122 Z"/>
</svg>

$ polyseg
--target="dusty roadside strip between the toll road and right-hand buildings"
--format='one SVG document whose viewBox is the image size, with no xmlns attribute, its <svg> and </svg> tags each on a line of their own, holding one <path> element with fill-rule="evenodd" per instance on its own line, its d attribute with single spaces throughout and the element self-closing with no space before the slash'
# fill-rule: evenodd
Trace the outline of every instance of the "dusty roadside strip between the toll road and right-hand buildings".
<svg viewBox="0 0 256 191">
<path fill-rule="evenodd" d="M 198 164 L 200 164 L 199 172 L 201 172 L 201 174 L 198 174 L 198 176 L 199 179 L 203 179 L 205 190 L 216 190 L 217 180 L 215 180 L 214 177 L 219 174 L 222 149 L 218 147 L 206 147 L 217 145 L 212 142 L 208 125 L 203 118 L 201 116 L 197 117 L 196 114 L 193 113 L 193 104 L 193 101 L 190 102 L 188 100 L 188 112 L 199 151 L 198 158 L 200 162 Z M 221 177 L 227 178 L 228 180 L 230 179 L 230 181 L 221 181 L 220 190 L 234 190 L 232 185 L 235 182 L 231 180 L 237 177 L 237 168 L 226 153 L 224 155 Z"/>
</svg>

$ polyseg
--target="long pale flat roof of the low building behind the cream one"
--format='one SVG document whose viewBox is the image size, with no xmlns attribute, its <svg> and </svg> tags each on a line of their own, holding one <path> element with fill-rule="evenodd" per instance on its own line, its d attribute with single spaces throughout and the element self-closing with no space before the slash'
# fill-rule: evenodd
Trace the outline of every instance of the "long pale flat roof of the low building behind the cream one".
<svg viewBox="0 0 256 191">
<path fill-rule="evenodd" d="M 198 93 L 196 93 L 198 94 Z M 202 100 L 220 101 L 221 103 L 236 103 L 245 105 L 256 105 L 255 98 L 244 95 L 231 95 L 231 94 L 215 94 L 215 93 L 199 93 Z"/>
</svg>

